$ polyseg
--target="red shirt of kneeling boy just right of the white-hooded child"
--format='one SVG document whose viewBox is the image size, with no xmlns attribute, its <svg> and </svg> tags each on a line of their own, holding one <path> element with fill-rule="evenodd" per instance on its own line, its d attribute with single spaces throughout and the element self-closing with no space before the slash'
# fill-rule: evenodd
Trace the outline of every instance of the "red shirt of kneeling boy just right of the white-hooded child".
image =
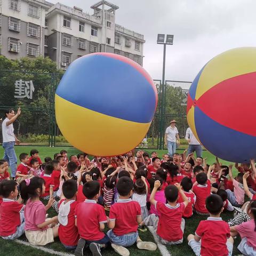
<svg viewBox="0 0 256 256">
<path fill-rule="evenodd" d="M 100 231 L 100 223 L 107 223 L 104 207 L 94 200 L 86 199 L 75 209 L 77 229 L 81 238 L 89 241 L 101 240 L 105 234 Z"/>
</svg>

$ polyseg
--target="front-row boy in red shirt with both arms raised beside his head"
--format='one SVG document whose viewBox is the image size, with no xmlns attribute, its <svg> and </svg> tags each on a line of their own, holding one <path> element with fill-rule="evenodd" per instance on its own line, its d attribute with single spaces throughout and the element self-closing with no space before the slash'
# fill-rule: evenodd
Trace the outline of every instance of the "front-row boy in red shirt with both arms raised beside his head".
<svg viewBox="0 0 256 256">
<path fill-rule="evenodd" d="M 167 186 L 164 190 L 168 203 L 157 202 L 155 194 L 159 186 L 161 186 L 161 183 L 156 180 L 150 195 L 150 203 L 155 205 L 156 210 L 161 215 L 157 217 L 155 214 L 150 214 L 140 225 L 145 223 L 147 226 L 153 226 L 162 244 L 181 244 L 185 228 L 185 220 L 182 219 L 182 214 L 188 205 L 188 198 L 183 193 L 180 184 L 175 183 L 175 185 Z M 183 203 L 177 203 L 179 193 L 182 196 Z M 170 230 L 172 231 L 170 232 Z"/>
</svg>

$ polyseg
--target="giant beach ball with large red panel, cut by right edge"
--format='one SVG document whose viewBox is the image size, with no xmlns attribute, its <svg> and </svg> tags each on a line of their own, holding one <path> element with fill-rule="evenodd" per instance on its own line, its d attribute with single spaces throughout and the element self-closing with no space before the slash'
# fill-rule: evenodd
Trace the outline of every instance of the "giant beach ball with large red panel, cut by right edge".
<svg viewBox="0 0 256 256">
<path fill-rule="evenodd" d="M 256 158 L 256 48 L 223 52 L 201 69 L 188 93 L 187 121 L 202 145 L 230 162 Z"/>
</svg>

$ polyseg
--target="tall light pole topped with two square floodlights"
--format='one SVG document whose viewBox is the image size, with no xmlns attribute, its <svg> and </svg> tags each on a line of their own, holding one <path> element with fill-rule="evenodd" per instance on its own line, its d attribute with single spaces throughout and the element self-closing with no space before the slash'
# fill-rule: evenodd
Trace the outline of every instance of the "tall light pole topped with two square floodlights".
<svg viewBox="0 0 256 256">
<path fill-rule="evenodd" d="M 159 149 L 163 149 L 163 137 L 164 137 L 164 98 L 165 98 L 165 52 L 166 52 L 166 45 L 173 45 L 173 35 L 166 35 L 165 34 L 158 34 L 157 35 L 157 44 L 164 45 L 164 55 L 163 55 L 163 76 L 162 76 L 162 90 L 161 93 L 161 106 L 160 106 L 160 140 L 159 140 Z"/>
</svg>

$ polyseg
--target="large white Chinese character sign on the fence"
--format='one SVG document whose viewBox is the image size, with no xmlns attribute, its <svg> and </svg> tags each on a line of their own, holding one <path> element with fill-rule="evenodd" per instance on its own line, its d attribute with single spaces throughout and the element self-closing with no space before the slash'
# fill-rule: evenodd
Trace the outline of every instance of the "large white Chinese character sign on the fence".
<svg viewBox="0 0 256 256">
<path fill-rule="evenodd" d="M 15 81 L 14 98 L 28 98 L 31 100 L 34 91 L 33 81 L 23 81 L 22 79 Z"/>
</svg>

